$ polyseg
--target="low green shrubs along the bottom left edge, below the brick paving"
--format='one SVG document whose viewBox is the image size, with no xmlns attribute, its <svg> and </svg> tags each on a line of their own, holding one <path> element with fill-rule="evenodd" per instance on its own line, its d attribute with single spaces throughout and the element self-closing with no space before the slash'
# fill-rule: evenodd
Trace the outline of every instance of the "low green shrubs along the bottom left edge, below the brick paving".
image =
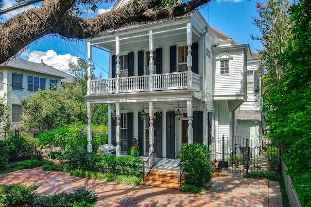
<svg viewBox="0 0 311 207">
<path fill-rule="evenodd" d="M 0 186 L 0 204 L 15 207 L 93 207 L 98 200 L 93 191 L 84 187 L 50 195 L 35 192 L 38 187 L 20 184 Z"/>
</svg>

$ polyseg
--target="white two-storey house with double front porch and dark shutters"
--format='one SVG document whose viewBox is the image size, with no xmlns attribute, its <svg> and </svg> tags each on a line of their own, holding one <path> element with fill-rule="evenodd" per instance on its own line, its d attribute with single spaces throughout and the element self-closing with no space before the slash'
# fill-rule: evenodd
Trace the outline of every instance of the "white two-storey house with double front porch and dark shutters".
<svg viewBox="0 0 311 207">
<path fill-rule="evenodd" d="M 87 84 L 88 151 L 92 104 L 109 106 L 109 143 L 117 156 L 128 152 L 133 138 L 141 155 L 154 150 L 164 158 L 178 157 L 182 143 L 200 142 L 215 159 L 223 136 L 233 143 L 238 120 L 232 114 L 247 101 L 251 51 L 211 28 L 198 10 L 105 31 L 88 40 L 89 60 L 92 48 L 110 58 L 109 78 Z"/>
</svg>

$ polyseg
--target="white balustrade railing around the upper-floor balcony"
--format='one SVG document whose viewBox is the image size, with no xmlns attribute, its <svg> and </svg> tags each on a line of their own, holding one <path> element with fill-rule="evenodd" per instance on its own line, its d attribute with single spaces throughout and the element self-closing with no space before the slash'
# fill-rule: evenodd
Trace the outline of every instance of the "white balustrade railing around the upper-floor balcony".
<svg viewBox="0 0 311 207">
<path fill-rule="evenodd" d="M 150 77 L 133 76 L 120 78 L 119 93 L 130 92 L 148 92 L 151 91 L 167 91 L 188 89 L 188 75 L 186 72 L 154 74 L 153 84 L 149 84 Z M 202 90 L 202 77 L 198 74 L 192 73 L 192 80 L 189 82 L 190 89 Z M 90 94 L 91 95 L 105 95 L 116 93 L 116 79 L 91 80 Z"/>
</svg>

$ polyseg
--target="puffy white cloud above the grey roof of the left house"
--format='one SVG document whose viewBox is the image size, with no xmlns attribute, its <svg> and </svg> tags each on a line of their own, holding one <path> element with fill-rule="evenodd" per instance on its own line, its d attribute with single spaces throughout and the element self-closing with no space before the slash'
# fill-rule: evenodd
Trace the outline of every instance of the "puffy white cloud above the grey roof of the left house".
<svg viewBox="0 0 311 207">
<path fill-rule="evenodd" d="M 78 57 L 70 54 L 57 54 L 54 50 L 49 49 L 46 52 L 37 50 L 31 52 L 28 60 L 35 63 L 41 63 L 42 60 L 43 63 L 68 73 L 69 62 L 77 63 Z"/>
</svg>

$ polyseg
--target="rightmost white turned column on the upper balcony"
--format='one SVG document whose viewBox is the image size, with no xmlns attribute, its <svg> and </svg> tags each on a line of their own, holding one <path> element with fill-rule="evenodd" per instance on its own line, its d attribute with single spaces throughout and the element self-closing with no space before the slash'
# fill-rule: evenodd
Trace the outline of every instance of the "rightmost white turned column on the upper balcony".
<svg viewBox="0 0 311 207">
<path fill-rule="evenodd" d="M 187 89 L 192 89 L 192 56 L 191 56 L 191 45 L 192 45 L 192 24 L 191 22 L 187 23 L 187 46 L 188 46 L 188 56 L 187 56 L 187 66 L 188 66 L 188 71 L 187 71 L 187 79 L 188 79 L 188 84 L 187 84 Z"/>
</svg>

